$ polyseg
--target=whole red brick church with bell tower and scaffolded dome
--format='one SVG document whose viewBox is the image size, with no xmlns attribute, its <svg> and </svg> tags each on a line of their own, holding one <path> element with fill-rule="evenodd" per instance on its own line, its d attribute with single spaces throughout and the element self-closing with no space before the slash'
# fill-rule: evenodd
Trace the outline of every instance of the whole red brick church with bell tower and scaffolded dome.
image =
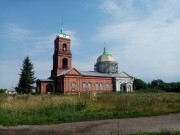
<svg viewBox="0 0 180 135">
<path fill-rule="evenodd" d="M 106 93 L 132 92 L 134 77 L 118 73 L 118 63 L 104 48 L 94 71 L 72 67 L 71 39 L 61 29 L 54 40 L 53 68 L 48 79 L 38 79 L 37 93 Z"/>
</svg>

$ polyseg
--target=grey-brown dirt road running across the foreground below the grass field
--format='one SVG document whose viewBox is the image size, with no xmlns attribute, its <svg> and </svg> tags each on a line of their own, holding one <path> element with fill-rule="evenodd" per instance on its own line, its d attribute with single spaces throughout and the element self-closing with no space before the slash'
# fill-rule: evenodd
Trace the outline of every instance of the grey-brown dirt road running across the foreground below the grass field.
<svg viewBox="0 0 180 135">
<path fill-rule="evenodd" d="M 117 133 L 152 132 L 162 129 L 180 131 L 180 113 L 52 125 L 0 126 L 0 135 L 116 135 Z"/>
</svg>

